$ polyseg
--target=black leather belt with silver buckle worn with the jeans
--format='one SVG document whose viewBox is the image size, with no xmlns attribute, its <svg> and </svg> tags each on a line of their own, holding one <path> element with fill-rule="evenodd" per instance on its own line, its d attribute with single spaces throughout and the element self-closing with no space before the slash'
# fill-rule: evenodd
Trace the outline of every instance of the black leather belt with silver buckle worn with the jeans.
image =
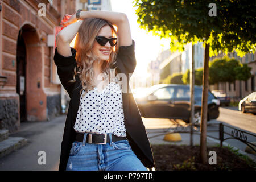
<svg viewBox="0 0 256 182">
<path fill-rule="evenodd" d="M 76 140 L 78 142 L 83 142 L 84 133 L 79 133 L 76 135 Z M 112 142 L 117 142 L 119 140 L 127 140 L 126 137 L 117 137 L 112 134 Z M 94 144 L 106 144 L 109 143 L 109 134 L 93 134 L 88 133 L 86 136 L 86 143 L 94 143 Z"/>
</svg>

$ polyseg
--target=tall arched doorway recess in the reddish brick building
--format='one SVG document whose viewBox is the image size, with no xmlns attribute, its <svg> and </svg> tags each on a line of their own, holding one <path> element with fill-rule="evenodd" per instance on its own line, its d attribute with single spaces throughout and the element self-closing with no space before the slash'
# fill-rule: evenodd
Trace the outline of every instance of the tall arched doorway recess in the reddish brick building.
<svg viewBox="0 0 256 182">
<path fill-rule="evenodd" d="M 43 46 L 39 32 L 27 23 L 17 39 L 17 86 L 20 122 L 46 120 Z"/>
</svg>

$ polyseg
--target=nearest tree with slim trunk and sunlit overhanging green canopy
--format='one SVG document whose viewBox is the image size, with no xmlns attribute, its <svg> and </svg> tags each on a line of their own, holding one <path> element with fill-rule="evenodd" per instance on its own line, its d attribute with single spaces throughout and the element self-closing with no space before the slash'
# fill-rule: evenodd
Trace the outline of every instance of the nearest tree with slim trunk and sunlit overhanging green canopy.
<svg viewBox="0 0 256 182">
<path fill-rule="evenodd" d="M 249 0 L 135 0 L 141 28 L 170 39 L 171 51 L 203 42 L 205 47 L 201 107 L 200 154 L 207 161 L 207 101 L 209 56 L 236 51 L 254 53 L 256 47 L 256 3 Z"/>
</svg>

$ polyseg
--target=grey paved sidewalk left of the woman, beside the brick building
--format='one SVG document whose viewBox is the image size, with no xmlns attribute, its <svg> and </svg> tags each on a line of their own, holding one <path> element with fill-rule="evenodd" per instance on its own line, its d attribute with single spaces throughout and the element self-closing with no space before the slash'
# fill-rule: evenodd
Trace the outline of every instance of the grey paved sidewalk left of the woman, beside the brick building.
<svg viewBox="0 0 256 182">
<path fill-rule="evenodd" d="M 26 146 L 0 158 L 0 171 L 53 171 L 59 169 L 60 147 L 63 137 L 66 115 L 51 119 L 51 121 L 36 121 L 21 123 L 20 129 L 10 137 L 27 139 Z M 38 160 L 46 154 L 46 164 Z"/>
</svg>

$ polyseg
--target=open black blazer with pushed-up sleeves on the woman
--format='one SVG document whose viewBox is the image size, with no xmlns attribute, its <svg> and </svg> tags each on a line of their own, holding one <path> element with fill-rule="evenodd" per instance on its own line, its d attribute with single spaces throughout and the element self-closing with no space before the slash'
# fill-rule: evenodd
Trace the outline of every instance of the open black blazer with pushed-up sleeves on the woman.
<svg viewBox="0 0 256 182">
<path fill-rule="evenodd" d="M 127 80 L 129 78 L 129 73 L 133 73 L 136 67 L 134 44 L 133 40 L 131 46 L 119 47 L 116 63 L 112 67 L 117 67 L 117 73 L 124 73 Z M 73 126 L 75 125 L 77 110 L 79 109 L 79 92 L 82 89 L 82 84 L 78 76 L 76 76 L 76 82 L 68 83 L 69 80 L 73 80 L 73 69 L 77 67 L 75 59 L 76 50 L 71 47 L 71 52 L 72 56 L 64 57 L 60 55 L 57 52 L 57 48 L 55 48 L 55 55 L 53 58 L 57 66 L 60 82 L 71 98 L 65 121 L 63 140 L 61 142 L 60 171 L 65 170 L 67 166 L 69 151 L 71 150 L 72 142 L 75 140 L 76 131 L 73 129 Z M 129 81 L 127 81 L 127 88 L 130 89 Z M 126 136 L 130 146 L 145 167 L 155 167 L 151 146 L 133 94 L 130 93 L 130 91 L 122 93 L 122 101 Z"/>
</svg>

